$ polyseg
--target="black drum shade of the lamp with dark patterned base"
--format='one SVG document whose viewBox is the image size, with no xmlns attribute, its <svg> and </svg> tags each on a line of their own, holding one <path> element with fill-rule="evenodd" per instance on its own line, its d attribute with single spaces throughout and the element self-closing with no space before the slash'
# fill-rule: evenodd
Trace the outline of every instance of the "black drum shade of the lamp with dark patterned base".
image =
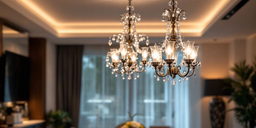
<svg viewBox="0 0 256 128">
<path fill-rule="evenodd" d="M 204 82 L 204 95 L 231 95 L 231 92 L 226 90 L 228 87 L 231 85 L 223 79 L 208 79 Z"/>
</svg>

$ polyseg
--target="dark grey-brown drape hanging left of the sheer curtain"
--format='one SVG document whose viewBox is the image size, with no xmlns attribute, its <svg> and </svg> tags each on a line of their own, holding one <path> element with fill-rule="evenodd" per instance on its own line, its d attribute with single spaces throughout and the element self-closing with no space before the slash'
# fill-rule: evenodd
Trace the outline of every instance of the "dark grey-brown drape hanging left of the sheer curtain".
<svg viewBox="0 0 256 128">
<path fill-rule="evenodd" d="M 57 46 L 57 110 L 66 111 L 78 127 L 83 46 Z"/>
</svg>

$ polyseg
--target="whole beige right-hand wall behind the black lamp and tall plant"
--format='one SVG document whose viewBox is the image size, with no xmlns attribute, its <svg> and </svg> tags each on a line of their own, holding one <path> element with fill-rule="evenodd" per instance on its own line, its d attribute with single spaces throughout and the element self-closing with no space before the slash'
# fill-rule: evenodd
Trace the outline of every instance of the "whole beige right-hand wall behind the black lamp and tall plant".
<svg viewBox="0 0 256 128">
<path fill-rule="evenodd" d="M 246 60 L 252 64 L 256 57 L 256 34 L 247 39 L 234 39 L 230 43 L 208 43 L 201 44 L 201 89 L 203 89 L 204 79 L 223 79 L 234 77 L 234 73 L 230 68 L 234 63 Z M 201 91 L 202 92 L 202 91 Z M 201 98 L 201 127 L 210 126 L 209 102 L 212 97 Z M 232 109 L 235 106 L 234 102 L 227 103 L 229 97 L 223 97 L 226 103 L 226 109 Z M 234 117 L 234 112 L 226 113 L 224 128 L 242 128 Z"/>
</svg>

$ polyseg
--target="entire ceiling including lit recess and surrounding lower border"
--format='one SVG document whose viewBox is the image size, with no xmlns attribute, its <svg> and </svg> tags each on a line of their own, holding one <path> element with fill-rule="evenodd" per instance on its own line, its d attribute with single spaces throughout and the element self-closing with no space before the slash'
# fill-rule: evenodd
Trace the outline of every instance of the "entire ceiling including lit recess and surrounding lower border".
<svg viewBox="0 0 256 128">
<path fill-rule="evenodd" d="M 126 13 L 125 7 L 128 4 L 127 0 L 0 1 L 0 5 L 3 5 L 0 17 L 28 29 L 32 36 L 46 36 L 55 42 L 97 41 L 121 33 L 123 25 L 120 24 L 120 14 Z M 180 21 L 182 36 L 192 39 L 200 37 L 201 40 L 227 40 L 237 34 L 250 36 L 256 33 L 254 0 L 244 5 L 229 20 L 220 20 L 239 1 L 178 1 L 178 7 L 187 11 L 187 19 Z M 153 41 L 162 39 L 166 23 L 161 22 L 161 14 L 164 8 L 170 8 L 168 2 L 133 0 L 133 13 L 141 14 L 142 17 L 141 22 L 136 24 L 137 32 L 155 37 Z"/>
</svg>

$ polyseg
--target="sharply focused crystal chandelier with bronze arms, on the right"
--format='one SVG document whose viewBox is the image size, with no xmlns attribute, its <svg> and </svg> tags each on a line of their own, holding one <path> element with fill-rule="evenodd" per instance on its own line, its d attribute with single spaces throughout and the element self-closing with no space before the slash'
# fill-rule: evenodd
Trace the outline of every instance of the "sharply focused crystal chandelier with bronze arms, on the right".
<svg viewBox="0 0 256 128">
<path fill-rule="evenodd" d="M 179 28 L 179 19 L 182 15 L 182 19 L 186 19 L 186 11 L 180 10 L 177 5 L 177 1 L 170 1 L 169 6 L 171 6 L 171 9 L 164 9 L 164 13 L 162 14 L 164 16 L 162 22 L 165 22 L 165 17 L 167 18 L 167 33 L 165 40 L 163 40 L 163 44 L 159 43 L 160 46 L 157 46 L 156 44 L 154 46 L 150 46 L 151 55 L 153 58 L 151 65 L 153 66 L 152 69 L 155 68 L 154 77 L 157 77 L 157 81 L 159 81 L 159 77 L 163 77 L 164 82 L 168 81 L 169 77 L 172 77 L 173 80 L 171 83 L 173 85 L 176 84 L 174 78 L 177 75 L 180 77 L 179 82 L 182 81 L 181 78 L 183 78 L 183 81 L 185 81 L 185 77 L 186 80 L 188 80 L 188 77 L 195 73 L 196 67 L 201 67 L 201 62 L 196 61 L 199 46 L 194 46 L 194 41 L 182 41 Z M 175 32 L 175 24 L 177 26 L 177 36 Z M 172 30 L 170 31 L 171 28 Z M 178 54 L 175 55 L 175 52 L 177 52 L 178 48 L 181 48 L 181 52 L 183 52 L 183 59 L 182 62 L 176 66 Z M 162 52 L 164 51 L 167 59 L 162 60 Z M 166 73 L 164 73 L 163 70 L 165 66 L 167 66 Z M 180 73 L 182 66 L 184 67 L 184 70 L 182 73 Z M 191 73 L 189 73 L 190 71 Z M 194 74 L 194 78 L 196 78 L 196 74 Z"/>
</svg>

